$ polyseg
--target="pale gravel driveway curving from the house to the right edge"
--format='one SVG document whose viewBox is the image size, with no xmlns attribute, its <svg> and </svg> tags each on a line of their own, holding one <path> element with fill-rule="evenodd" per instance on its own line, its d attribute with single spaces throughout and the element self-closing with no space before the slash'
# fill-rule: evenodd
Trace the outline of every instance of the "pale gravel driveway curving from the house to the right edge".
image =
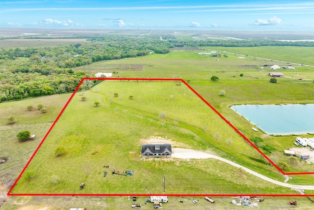
<svg viewBox="0 0 314 210">
<path fill-rule="evenodd" d="M 262 174 L 259 174 L 251 169 L 248 169 L 246 167 L 243 167 L 237 163 L 234 163 L 230 160 L 227 160 L 225 158 L 222 158 L 222 157 L 219 157 L 219 156 L 216 156 L 216 155 L 212 155 L 212 154 L 209 154 L 209 153 L 206 153 L 206 152 L 202 152 L 202 151 L 196 151 L 196 150 L 189 150 L 189 149 L 182 149 L 182 148 L 173 148 L 172 149 L 172 157 L 175 157 L 175 158 L 180 158 L 180 159 L 192 159 L 192 158 L 195 158 L 195 159 L 203 159 L 203 158 L 214 158 L 214 159 L 217 159 L 217 160 L 220 160 L 222 162 L 225 162 L 225 163 L 228 163 L 230 165 L 233 165 L 235 166 L 236 168 L 242 168 L 243 171 L 246 171 L 256 177 L 259 177 L 263 180 L 266 180 L 266 181 L 269 181 L 271 183 L 274 183 L 274 184 L 277 184 L 277 185 L 280 185 L 280 186 L 283 186 L 283 187 L 294 187 L 294 188 L 299 188 L 299 189 L 307 189 L 307 190 L 314 190 L 314 185 L 295 185 L 295 184 L 288 184 L 288 183 L 284 183 L 284 182 L 280 182 L 280 181 L 277 181 L 277 180 L 273 180 L 273 179 L 270 179 Z"/>
</svg>

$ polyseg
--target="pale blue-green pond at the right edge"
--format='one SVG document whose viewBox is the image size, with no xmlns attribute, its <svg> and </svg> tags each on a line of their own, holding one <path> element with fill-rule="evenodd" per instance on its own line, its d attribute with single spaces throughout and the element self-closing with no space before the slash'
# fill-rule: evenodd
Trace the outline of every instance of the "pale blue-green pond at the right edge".
<svg viewBox="0 0 314 210">
<path fill-rule="evenodd" d="M 314 104 L 248 104 L 231 109 L 269 135 L 314 133 Z"/>
</svg>

